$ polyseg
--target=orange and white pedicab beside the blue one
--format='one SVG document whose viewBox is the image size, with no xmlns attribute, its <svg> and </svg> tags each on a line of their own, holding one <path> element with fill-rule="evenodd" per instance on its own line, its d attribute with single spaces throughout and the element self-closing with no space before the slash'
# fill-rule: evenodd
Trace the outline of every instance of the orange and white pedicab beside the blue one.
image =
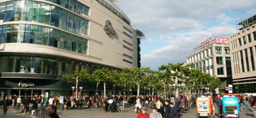
<svg viewBox="0 0 256 118">
<path fill-rule="evenodd" d="M 196 118 L 214 118 L 215 109 L 212 106 L 212 98 L 201 96 L 196 99 L 196 110 L 197 115 Z"/>
</svg>

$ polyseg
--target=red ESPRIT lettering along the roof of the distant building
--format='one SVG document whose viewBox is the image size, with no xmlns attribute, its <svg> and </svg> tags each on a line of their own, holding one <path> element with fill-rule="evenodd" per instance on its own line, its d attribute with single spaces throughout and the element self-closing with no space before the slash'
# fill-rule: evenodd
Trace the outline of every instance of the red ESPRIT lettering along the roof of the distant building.
<svg viewBox="0 0 256 118">
<path fill-rule="evenodd" d="M 201 43 L 201 49 L 211 45 L 211 44 L 228 44 L 228 38 L 227 37 L 214 37 L 209 38 Z"/>
</svg>

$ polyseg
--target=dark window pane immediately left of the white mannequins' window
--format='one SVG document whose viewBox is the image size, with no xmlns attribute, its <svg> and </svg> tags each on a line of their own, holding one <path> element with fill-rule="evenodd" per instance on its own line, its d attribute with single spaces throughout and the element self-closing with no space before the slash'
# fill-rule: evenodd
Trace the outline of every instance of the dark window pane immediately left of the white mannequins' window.
<svg viewBox="0 0 256 118">
<path fill-rule="evenodd" d="M 8 60 L 8 72 L 19 72 L 20 56 L 10 56 Z"/>
</svg>

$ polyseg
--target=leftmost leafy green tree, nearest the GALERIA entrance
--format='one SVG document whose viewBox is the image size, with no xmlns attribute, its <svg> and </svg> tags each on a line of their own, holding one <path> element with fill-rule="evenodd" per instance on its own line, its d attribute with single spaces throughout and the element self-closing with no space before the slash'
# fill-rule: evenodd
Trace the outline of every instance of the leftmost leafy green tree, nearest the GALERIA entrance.
<svg viewBox="0 0 256 118">
<path fill-rule="evenodd" d="M 89 74 L 86 71 L 73 71 L 73 74 L 63 74 L 62 77 L 57 77 L 57 79 L 66 80 L 69 83 L 76 84 L 76 99 L 77 99 L 78 82 L 89 81 L 88 76 Z"/>
</svg>

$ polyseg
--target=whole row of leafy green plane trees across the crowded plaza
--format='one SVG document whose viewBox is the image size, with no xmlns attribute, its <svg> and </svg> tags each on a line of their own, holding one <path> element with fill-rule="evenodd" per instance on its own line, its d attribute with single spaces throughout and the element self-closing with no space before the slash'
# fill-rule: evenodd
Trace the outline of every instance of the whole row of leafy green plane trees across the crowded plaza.
<svg viewBox="0 0 256 118">
<path fill-rule="evenodd" d="M 162 65 L 158 71 L 151 70 L 150 68 L 125 68 L 121 71 L 110 70 L 108 68 L 97 69 L 92 74 L 85 71 L 74 71 L 73 74 L 64 74 L 58 77 L 58 80 L 66 80 L 77 84 L 78 82 L 90 82 L 96 84 L 96 95 L 98 94 L 98 85 L 103 82 L 104 96 L 106 96 L 106 83 L 113 85 L 113 91 L 116 86 L 127 88 L 131 86 L 137 88 L 137 96 L 140 94 L 140 88 L 147 88 L 154 91 L 162 91 L 166 98 L 166 92 L 169 84 L 176 84 L 176 96 L 179 96 L 178 84 L 184 83 L 187 92 L 195 92 L 196 88 L 208 87 L 210 91 L 218 88 L 221 84 L 219 78 L 211 77 L 210 74 L 202 73 L 200 70 L 191 69 L 193 64 L 182 66 L 181 64 Z M 77 93 L 77 91 L 76 91 Z M 125 91 L 124 91 L 125 94 Z M 77 95 L 76 95 L 77 97 Z"/>
</svg>

